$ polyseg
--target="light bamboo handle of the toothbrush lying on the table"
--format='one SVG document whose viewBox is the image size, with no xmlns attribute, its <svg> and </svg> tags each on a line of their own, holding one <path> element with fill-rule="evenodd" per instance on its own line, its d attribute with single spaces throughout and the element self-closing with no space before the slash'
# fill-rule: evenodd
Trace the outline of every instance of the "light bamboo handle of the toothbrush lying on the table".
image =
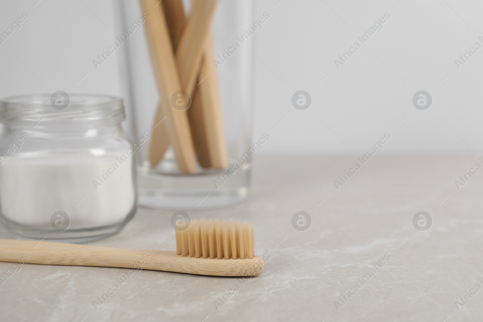
<svg viewBox="0 0 483 322">
<path fill-rule="evenodd" d="M 253 276 L 263 260 L 210 259 L 176 255 L 175 251 L 135 250 L 35 240 L 0 239 L 0 261 L 22 265 L 67 265 L 151 269 L 213 276 Z"/>
</svg>

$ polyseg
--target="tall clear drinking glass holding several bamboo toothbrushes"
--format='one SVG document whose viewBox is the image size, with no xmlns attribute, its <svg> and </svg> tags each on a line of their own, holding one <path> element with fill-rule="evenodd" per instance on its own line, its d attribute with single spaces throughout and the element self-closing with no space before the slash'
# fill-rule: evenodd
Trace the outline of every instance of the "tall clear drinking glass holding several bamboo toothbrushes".
<svg viewBox="0 0 483 322">
<path fill-rule="evenodd" d="M 189 16 L 190 1 L 183 2 L 186 15 Z M 254 17 L 254 1 L 221 0 L 214 12 L 209 32 L 213 35 L 214 53 L 218 62 L 210 63 L 217 67 L 225 129 L 225 138 L 220 140 L 227 147 L 228 167 L 215 170 L 198 165 L 195 174 L 186 175 L 178 170 L 171 148 L 156 167 L 150 166 L 147 160 L 148 149 L 145 149 L 138 158 L 140 204 L 143 206 L 211 208 L 233 204 L 248 196 L 252 155 L 249 151 L 254 151 L 250 148 L 253 144 L 252 65 L 255 39 L 251 39 L 252 34 L 246 32 L 249 28 L 258 29 L 253 28 L 254 22 L 257 22 Z M 118 35 L 126 35 L 129 28 L 135 30 L 128 33 L 127 39 L 122 39 L 118 49 L 128 114 L 125 126 L 134 137 L 143 132 L 151 133 L 155 126 L 158 102 L 157 76 L 150 62 L 145 26 L 140 23 L 142 19 L 139 19 L 143 14 L 139 1 L 116 1 Z M 121 37 L 116 39 L 121 40 Z"/>
</svg>

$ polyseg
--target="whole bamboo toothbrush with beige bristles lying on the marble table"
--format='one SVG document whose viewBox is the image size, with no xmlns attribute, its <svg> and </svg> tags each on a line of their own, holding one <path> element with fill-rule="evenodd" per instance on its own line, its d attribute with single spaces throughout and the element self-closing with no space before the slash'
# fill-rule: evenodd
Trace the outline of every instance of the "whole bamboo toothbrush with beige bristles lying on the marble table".
<svg viewBox="0 0 483 322">
<path fill-rule="evenodd" d="M 27 264 L 105 266 L 212 276 L 253 276 L 263 272 L 254 255 L 253 225 L 246 222 L 177 222 L 176 251 L 135 250 L 35 240 L 0 239 L 0 261 Z M 184 223 L 186 224 L 186 222 Z"/>
</svg>

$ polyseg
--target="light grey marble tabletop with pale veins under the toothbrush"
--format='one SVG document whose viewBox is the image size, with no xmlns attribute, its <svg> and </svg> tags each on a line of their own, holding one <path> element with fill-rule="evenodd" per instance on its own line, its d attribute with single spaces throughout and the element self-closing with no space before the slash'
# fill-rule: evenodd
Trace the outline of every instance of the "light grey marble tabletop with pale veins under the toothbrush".
<svg viewBox="0 0 483 322">
<path fill-rule="evenodd" d="M 483 290 L 474 286 L 483 287 L 483 170 L 459 190 L 455 180 L 482 162 L 376 154 L 337 190 L 334 180 L 355 162 L 349 155 L 260 156 L 247 202 L 189 212 L 253 221 L 256 254 L 267 259 L 260 276 L 141 271 L 120 284 L 126 269 L 26 264 L 0 286 L 0 320 L 481 321 Z M 433 219 L 427 231 L 412 223 L 421 210 Z M 306 231 L 292 225 L 298 211 L 312 218 Z M 141 208 L 120 234 L 92 244 L 174 250 L 172 213 Z M 9 236 L 1 230 L 0 237 Z M 384 255 L 382 270 L 371 271 Z M 0 263 L 0 273 L 11 266 Z M 114 283 L 119 289 L 96 310 L 93 301 Z M 220 302 L 235 284 L 240 289 Z"/>
</svg>

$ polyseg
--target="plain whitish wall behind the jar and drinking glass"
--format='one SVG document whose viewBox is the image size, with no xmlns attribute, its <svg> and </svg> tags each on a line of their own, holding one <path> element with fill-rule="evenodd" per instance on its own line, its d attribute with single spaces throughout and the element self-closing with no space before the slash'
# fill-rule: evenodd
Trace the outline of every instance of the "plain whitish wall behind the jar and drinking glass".
<svg viewBox="0 0 483 322">
<path fill-rule="evenodd" d="M 56 90 L 122 96 L 118 58 L 97 70 L 92 64 L 116 36 L 112 1 L 0 3 L 1 32 L 28 13 L 0 44 L 0 97 Z M 262 153 L 358 153 L 386 132 L 386 153 L 483 147 L 483 48 L 455 65 L 465 49 L 483 45 L 481 1 L 257 1 L 255 15 L 264 12 L 270 19 L 254 35 L 253 136 L 271 135 Z M 384 28 L 337 69 L 334 59 L 385 12 Z M 291 104 L 298 90 L 312 96 L 306 111 Z M 412 105 L 419 90 L 433 97 L 426 111 Z"/>
</svg>

